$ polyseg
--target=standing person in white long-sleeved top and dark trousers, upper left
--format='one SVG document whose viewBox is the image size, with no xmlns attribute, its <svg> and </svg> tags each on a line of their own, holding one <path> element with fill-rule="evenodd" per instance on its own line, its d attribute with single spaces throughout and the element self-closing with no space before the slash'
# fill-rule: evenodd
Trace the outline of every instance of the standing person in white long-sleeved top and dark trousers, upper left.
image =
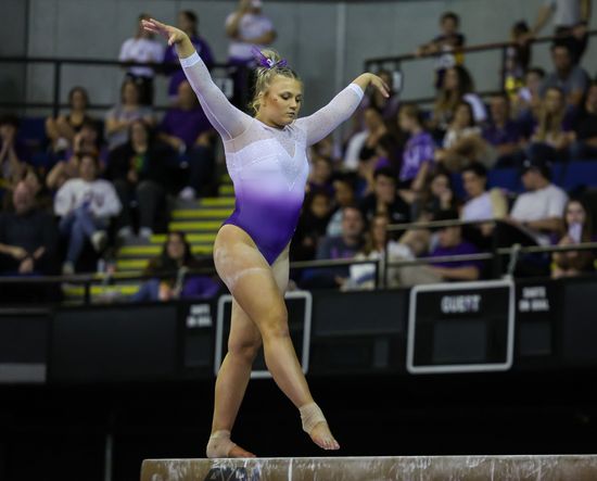
<svg viewBox="0 0 597 481">
<path fill-rule="evenodd" d="M 164 56 L 162 43 L 153 39 L 153 34 L 141 26 L 142 20 L 149 20 L 150 15 L 141 13 L 137 22 L 137 33 L 135 37 L 124 41 L 120 47 L 118 60 L 120 62 L 140 62 L 157 64 Z M 139 102 L 143 105 L 153 104 L 153 77 L 155 72 L 153 66 L 129 66 L 127 77 L 132 79 L 139 88 Z"/>
</svg>

